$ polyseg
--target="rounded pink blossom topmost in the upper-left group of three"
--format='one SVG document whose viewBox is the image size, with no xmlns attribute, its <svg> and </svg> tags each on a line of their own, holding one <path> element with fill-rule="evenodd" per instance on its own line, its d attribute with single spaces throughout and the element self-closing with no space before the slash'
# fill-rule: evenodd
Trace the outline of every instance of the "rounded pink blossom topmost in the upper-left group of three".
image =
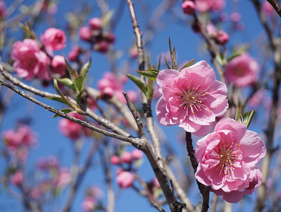
<svg viewBox="0 0 281 212">
<path fill-rule="evenodd" d="M 60 29 L 49 28 L 40 38 L 46 52 L 50 55 L 53 55 L 53 51 L 62 50 L 66 46 L 65 33 Z"/>
</svg>

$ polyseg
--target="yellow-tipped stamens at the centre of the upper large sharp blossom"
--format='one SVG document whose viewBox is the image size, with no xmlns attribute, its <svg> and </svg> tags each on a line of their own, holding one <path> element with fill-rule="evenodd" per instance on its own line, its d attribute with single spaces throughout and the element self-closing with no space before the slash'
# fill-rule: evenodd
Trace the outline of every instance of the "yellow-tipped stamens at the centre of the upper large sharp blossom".
<svg viewBox="0 0 281 212">
<path fill-rule="evenodd" d="M 183 109 L 186 109 L 185 117 L 189 115 L 189 109 L 191 110 L 192 114 L 194 114 L 195 111 L 200 111 L 202 108 L 209 111 L 208 107 L 202 103 L 202 100 L 206 100 L 207 97 L 205 95 L 208 95 L 209 92 L 207 89 L 200 89 L 200 85 L 197 86 L 197 88 L 191 86 L 192 80 L 190 81 L 190 86 L 188 86 L 188 89 L 184 89 L 181 87 L 182 92 L 178 92 L 177 95 L 179 95 L 179 99 L 176 99 L 177 101 L 180 101 L 179 107 L 184 106 Z M 184 119 L 185 119 L 184 117 Z"/>
</svg>

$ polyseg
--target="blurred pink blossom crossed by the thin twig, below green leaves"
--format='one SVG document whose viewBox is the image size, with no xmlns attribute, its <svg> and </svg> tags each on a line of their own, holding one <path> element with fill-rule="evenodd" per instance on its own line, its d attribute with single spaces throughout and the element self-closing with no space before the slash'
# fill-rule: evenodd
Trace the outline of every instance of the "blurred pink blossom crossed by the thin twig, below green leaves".
<svg viewBox="0 0 281 212">
<path fill-rule="evenodd" d="M 83 120 L 83 115 L 80 115 L 78 113 L 68 113 L 68 115 L 71 115 L 76 119 Z M 73 140 L 80 138 L 84 133 L 84 129 L 82 125 L 77 124 L 68 119 L 61 119 L 59 121 L 59 130 L 63 135 Z"/>
</svg>

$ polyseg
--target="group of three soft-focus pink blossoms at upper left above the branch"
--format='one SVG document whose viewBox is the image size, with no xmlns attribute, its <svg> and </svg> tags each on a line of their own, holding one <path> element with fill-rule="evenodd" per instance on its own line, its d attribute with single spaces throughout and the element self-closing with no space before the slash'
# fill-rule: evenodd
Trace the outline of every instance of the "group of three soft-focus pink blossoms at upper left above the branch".
<svg viewBox="0 0 281 212">
<path fill-rule="evenodd" d="M 49 28 L 41 35 L 41 41 L 45 51 L 49 56 L 53 56 L 53 51 L 61 50 L 65 47 L 66 37 L 62 30 Z M 38 77 L 40 80 L 50 80 L 51 72 L 65 73 L 65 62 L 62 56 L 55 56 L 51 59 L 41 48 L 36 40 L 24 39 L 13 44 L 11 58 L 14 60 L 13 67 L 19 77 L 32 80 Z M 51 63 L 51 69 L 50 69 Z"/>
</svg>

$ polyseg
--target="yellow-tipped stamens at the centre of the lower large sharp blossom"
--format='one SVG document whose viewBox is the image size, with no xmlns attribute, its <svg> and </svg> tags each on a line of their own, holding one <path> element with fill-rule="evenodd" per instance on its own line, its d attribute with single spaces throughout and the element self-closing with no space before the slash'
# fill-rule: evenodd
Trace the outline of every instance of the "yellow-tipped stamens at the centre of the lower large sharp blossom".
<svg viewBox="0 0 281 212">
<path fill-rule="evenodd" d="M 224 139 L 224 138 L 222 138 Z M 239 152 L 238 152 L 239 151 Z M 220 171 L 219 177 L 224 173 L 225 175 L 229 174 L 233 176 L 233 170 L 235 169 L 236 162 L 240 160 L 239 156 L 241 155 L 240 145 L 234 144 L 231 142 L 230 145 L 225 143 L 225 140 L 220 142 L 218 145 L 218 152 L 220 155 L 220 163 L 217 166 L 217 169 Z"/>
</svg>

